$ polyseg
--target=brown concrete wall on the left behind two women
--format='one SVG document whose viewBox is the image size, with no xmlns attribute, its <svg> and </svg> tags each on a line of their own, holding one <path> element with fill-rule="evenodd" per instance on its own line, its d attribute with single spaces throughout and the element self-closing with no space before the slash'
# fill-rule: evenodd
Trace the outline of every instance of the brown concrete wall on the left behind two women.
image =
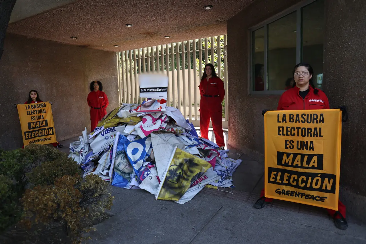
<svg viewBox="0 0 366 244">
<path fill-rule="evenodd" d="M 22 147 L 18 112 L 29 90 L 52 101 L 57 140 L 90 130 L 86 97 L 89 83 L 100 80 L 109 99 L 107 112 L 118 106 L 116 54 L 8 34 L 0 62 L 0 148 Z"/>
</svg>

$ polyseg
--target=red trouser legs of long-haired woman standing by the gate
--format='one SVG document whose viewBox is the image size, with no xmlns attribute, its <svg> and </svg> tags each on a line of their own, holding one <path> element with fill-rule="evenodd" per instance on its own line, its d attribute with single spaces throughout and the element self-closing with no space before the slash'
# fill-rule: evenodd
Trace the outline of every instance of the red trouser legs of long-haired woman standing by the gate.
<svg viewBox="0 0 366 244">
<path fill-rule="evenodd" d="M 203 105 L 203 106 L 202 106 Z M 208 128 L 210 126 L 210 118 L 212 121 L 213 132 L 216 137 L 216 144 L 219 147 L 225 147 L 224 131 L 223 131 L 223 108 L 219 104 L 200 104 L 199 107 L 199 128 L 201 137 L 208 139 Z"/>
</svg>

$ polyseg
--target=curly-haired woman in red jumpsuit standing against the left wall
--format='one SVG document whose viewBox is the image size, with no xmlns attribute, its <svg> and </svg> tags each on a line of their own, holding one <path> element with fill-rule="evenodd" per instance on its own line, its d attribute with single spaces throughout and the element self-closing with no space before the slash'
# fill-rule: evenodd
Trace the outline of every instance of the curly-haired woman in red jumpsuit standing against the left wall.
<svg viewBox="0 0 366 244">
<path fill-rule="evenodd" d="M 109 101 L 107 95 L 102 92 L 103 86 L 100 81 L 92 81 L 90 83 L 90 92 L 88 94 L 88 106 L 90 107 L 90 132 L 92 132 L 98 125 L 98 122 L 107 115 L 106 108 Z"/>
</svg>

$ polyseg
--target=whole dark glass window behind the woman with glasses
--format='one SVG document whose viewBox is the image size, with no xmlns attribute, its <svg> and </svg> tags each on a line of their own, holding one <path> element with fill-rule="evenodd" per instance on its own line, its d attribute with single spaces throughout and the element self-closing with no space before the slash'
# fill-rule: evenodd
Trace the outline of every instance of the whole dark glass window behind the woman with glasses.
<svg viewBox="0 0 366 244">
<path fill-rule="evenodd" d="M 252 91 L 280 94 L 294 84 L 298 62 L 314 69 L 314 85 L 322 86 L 324 0 L 296 6 L 252 31 Z M 268 92 L 271 91 L 271 92 Z M 274 92 L 278 91 L 278 92 Z"/>
</svg>

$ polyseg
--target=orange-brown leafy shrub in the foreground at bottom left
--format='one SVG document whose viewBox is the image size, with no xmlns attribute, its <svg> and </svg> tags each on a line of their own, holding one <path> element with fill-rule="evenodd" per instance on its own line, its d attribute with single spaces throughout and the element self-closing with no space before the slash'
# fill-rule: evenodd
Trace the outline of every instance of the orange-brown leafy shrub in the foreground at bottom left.
<svg viewBox="0 0 366 244">
<path fill-rule="evenodd" d="M 107 182 L 91 174 L 85 177 L 85 182 L 80 175 L 64 175 L 55 185 L 27 189 L 22 198 L 25 212 L 22 222 L 28 227 L 34 223 L 61 223 L 73 243 L 80 243 L 81 232 L 90 231 L 82 221 L 97 218 L 106 208 L 111 208 L 113 197 L 108 187 Z"/>
</svg>

